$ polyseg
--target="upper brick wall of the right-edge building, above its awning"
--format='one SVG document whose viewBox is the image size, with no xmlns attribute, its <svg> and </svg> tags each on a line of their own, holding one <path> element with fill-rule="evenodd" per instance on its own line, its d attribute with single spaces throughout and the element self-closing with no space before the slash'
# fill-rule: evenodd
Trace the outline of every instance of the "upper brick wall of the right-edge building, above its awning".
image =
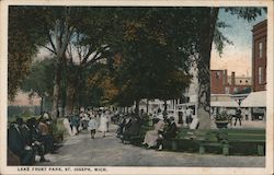
<svg viewBox="0 0 274 175">
<path fill-rule="evenodd" d="M 266 90 L 266 33 L 267 21 L 253 26 L 252 45 L 252 91 Z"/>
</svg>

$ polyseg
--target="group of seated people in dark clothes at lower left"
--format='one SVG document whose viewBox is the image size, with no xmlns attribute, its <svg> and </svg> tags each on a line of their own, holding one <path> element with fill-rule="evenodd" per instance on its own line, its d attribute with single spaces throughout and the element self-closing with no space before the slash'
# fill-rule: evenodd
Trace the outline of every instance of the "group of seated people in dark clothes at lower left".
<svg viewBox="0 0 274 175">
<path fill-rule="evenodd" d="M 38 119 L 35 117 L 23 120 L 16 117 L 8 128 L 8 161 L 11 165 L 32 165 L 35 155 L 39 162 L 47 162 L 46 153 L 55 153 L 53 137 L 53 119 L 44 113 Z"/>
</svg>

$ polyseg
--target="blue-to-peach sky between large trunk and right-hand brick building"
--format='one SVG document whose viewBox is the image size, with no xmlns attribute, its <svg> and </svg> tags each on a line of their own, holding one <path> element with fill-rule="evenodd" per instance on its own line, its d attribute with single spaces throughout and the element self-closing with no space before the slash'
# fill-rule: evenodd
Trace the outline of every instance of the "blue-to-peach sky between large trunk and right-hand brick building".
<svg viewBox="0 0 274 175">
<path fill-rule="evenodd" d="M 251 30 L 253 25 L 266 20 L 266 13 L 263 13 L 252 22 L 248 22 L 243 19 L 238 19 L 236 15 L 226 13 L 224 10 L 220 10 L 218 18 L 220 21 L 224 21 L 226 22 L 226 24 L 231 26 L 221 30 L 221 32 L 233 43 L 233 45 L 226 45 L 221 57 L 219 57 L 219 54 L 215 48 L 213 48 L 210 69 L 227 69 L 229 74 L 235 71 L 236 75 L 251 77 Z"/>
</svg>

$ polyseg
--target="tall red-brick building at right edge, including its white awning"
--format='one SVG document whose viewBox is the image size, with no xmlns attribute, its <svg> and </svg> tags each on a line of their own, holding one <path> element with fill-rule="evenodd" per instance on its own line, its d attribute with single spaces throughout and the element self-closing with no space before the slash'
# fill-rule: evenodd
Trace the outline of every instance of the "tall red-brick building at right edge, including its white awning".
<svg viewBox="0 0 274 175">
<path fill-rule="evenodd" d="M 242 101 L 241 107 L 250 109 L 252 120 L 265 120 L 267 21 L 254 25 L 252 33 L 252 92 Z"/>
</svg>

